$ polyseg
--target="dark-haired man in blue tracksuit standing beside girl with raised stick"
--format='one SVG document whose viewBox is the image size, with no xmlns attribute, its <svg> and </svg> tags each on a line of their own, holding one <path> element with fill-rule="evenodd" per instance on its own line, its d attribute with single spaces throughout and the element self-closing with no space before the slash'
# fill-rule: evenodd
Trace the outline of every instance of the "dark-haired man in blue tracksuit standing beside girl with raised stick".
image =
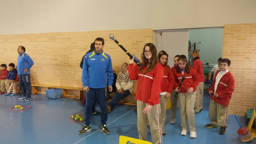
<svg viewBox="0 0 256 144">
<path fill-rule="evenodd" d="M 82 82 L 84 90 L 88 92 L 86 96 L 84 127 L 78 134 L 85 134 L 91 131 L 90 117 L 92 114 L 92 105 L 96 99 L 100 106 L 100 130 L 104 134 L 110 134 L 106 122 L 108 119 L 106 102 L 106 85 L 108 79 L 108 90 L 112 92 L 112 83 L 114 79 L 111 58 L 103 52 L 103 38 L 94 40 L 95 50 L 86 54 L 82 69 Z"/>
</svg>

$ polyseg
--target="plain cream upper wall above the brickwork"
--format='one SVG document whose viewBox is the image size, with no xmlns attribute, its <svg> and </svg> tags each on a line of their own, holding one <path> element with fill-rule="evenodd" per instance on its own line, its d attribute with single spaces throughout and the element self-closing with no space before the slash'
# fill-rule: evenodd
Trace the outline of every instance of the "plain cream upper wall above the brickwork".
<svg viewBox="0 0 256 144">
<path fill-rule="evenodd" d="M 256 22 L 256 0 L 0 0 L 0 34 Z"/>
</svg>

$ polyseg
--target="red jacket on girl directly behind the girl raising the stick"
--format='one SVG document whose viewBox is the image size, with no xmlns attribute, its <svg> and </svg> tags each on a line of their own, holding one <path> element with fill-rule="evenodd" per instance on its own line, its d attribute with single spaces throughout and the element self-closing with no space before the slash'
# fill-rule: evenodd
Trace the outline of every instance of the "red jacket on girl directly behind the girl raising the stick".
<svg viewBox="0 0 256 144">
<path fill-rule="evenodd" d="M 172 88 L 174 86 L 174 76 L 172 70 L 169 66 L 162 65 L 164 69 L 164 77 L 162 83 L 162 90 L 161 92 L 169 92 L 172 93 Z"/>
</svg>

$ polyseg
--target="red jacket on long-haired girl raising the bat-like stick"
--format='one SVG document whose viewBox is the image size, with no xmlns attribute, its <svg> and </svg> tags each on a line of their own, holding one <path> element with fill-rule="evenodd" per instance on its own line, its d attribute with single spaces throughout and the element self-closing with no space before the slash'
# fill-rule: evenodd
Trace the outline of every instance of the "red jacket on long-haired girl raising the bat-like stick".
<svg viewBox="0 0 256 144">
<path fill-rule="evenodd" d="M 148 103 L 151 106 L 160 104 L 159 95 L 164 76 L 162 65 L 158 62 L 151 72 L 144 74 L 146 70 L 147 68 L 144 68 L 143 72 L 140 72 L 138 65 L 133 66 L 133 64 L 129 64 L 130 80 L 138 80 L 135 99 Z"/>
</svg>

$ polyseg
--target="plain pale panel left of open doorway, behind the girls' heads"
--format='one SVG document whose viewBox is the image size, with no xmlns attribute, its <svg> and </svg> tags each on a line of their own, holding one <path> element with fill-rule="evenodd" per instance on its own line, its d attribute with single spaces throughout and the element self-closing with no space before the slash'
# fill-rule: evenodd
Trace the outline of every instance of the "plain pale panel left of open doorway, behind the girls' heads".
<svg viewBox="0 0 256 144">
<path fill-rule="evenodd" d="M 154 43 L 159 53 L 164 50 L 169 55 L 168 65 L 174 65 L 173 58 L 177 54 L 188 56 L 188 30 L 179 32 L 162 32 L 162 36 L 154 33 Z"/>
</svg>

